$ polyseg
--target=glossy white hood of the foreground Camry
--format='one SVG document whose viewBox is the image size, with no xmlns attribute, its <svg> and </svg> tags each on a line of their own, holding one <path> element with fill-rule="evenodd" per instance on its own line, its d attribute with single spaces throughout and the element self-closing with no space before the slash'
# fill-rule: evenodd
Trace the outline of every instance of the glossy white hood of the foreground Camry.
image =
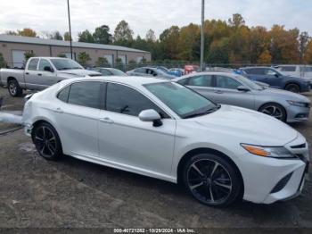
<svg viewBox="0 0 312 234">
<path fill-rule="evenodd" d="M 241 143 L 259 146 L 284 146 L 298 136 L 296 130 L 267 114 L 226 104 L 214 113 L 190 120 L 205 127 L 209 134 L 223 133 L 241 138 Z"/>
</svg>

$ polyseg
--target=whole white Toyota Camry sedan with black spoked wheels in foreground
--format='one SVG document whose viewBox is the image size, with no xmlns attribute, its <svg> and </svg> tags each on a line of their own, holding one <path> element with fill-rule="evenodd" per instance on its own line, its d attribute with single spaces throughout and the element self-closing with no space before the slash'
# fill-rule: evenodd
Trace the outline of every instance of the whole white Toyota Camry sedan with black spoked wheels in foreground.
<svg viewBox="0 0 312 234">
<path fill-rule="evenodd" d="M 282 121 L 161 79 L 66 79 L 31 96 L 23 121 L 45 159 L 181 182 L 206 205 L 289 199 L 308 171 L 306 139 Z"/>
</svg>

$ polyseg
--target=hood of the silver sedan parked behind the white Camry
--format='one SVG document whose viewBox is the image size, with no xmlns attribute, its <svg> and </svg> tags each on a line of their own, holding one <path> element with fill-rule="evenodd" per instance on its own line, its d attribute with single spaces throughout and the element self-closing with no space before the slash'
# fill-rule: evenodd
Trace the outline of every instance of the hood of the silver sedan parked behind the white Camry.
<svg viewBox="0 0 312 234">
<path fill-rule="evenodd" d="M 308 97 L 300 95 L 300 94 L 292 93 L 290 91 L 282 90 L 282 89 L 265 88 L 258 92 L 260 95 L 263 95 L 263 96 L 278 96 L 278 97 L 283 97 L 290 101 L 310 103 L 310 100 L 308 99 Z"/>
</svg>

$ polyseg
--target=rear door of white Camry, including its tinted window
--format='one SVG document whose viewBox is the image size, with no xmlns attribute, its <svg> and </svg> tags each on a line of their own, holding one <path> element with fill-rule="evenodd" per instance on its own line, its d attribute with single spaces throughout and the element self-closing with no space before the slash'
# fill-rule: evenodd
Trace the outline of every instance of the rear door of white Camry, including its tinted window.
<svg viewBox="0 0 312 234">
<path fill-rule="evenodd" d="M 98 119 L 103 82 L 78 81 L 63 88 L 53 104 L 64 154 L 98 156 Z"/>
</svg>

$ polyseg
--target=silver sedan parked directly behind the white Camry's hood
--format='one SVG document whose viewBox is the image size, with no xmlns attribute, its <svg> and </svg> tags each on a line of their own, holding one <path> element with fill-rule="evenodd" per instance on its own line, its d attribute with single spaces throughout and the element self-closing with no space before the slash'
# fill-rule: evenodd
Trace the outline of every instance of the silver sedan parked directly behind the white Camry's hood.
<svg viewBox="0 0 312 234">
<path fill-rule="evenodd" d="M 264 88 L 241 75 L 229 72 L 200 72 L 178 79 L 178 83 L 218 104 L 232 104 L 267 113 L 287 122 L 307 121 L 310 101 L 288 91 Z"/>
</svg>

